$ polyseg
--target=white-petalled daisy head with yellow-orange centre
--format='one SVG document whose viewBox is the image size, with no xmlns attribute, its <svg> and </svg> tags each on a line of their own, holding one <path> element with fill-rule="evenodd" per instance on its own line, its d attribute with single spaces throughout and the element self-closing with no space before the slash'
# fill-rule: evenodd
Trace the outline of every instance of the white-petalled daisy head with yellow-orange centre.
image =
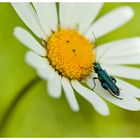
<svg viewBox="0 0 140 140">
<path fill-rule="evenodd" d="M 102 68 L 110 75 L 140 80 L 140 70 L 124 64 L 140 64 L 140 38 L 109 42 L 97 47 L 95 40 L 127 23 L 134 16 L 133 10 L 123 6 L 106 13 L 96 20 L 102 3 L 13 3 L 15 11 L 30 28 L 32 34 L 16 27 L 14 35 L 27 46 L 25 60 L 47 81 L 48 94 L 60 98 L 62 90 L 73 111 L 80 107 L 75 91 L 85 98 L 101 115 L 109 115 L 104 99 L 127 109 L 139 110 L 140 90 L 116 78 L 122 100 L 113 97 L 96 80 L 94 66 L 99 59 Z M 84 10 L 84 11 L 83 11 Z M 111 49 L 109 49 L 111 48 Z M 104 99 L 103 99 L 104 98 Z"/>
</svg>

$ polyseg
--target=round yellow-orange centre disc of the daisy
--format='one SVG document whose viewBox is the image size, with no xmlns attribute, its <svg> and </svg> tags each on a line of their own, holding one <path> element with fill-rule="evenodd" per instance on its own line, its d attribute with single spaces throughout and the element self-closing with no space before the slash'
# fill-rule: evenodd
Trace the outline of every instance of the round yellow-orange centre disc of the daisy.
<svg viewBox="0 0 140 140">
<path fill-rule="evenodd" d="M 61 29 L 47 42 L 51 65 L 69 79 L 81 80 L 91 73 L 95 55 L 93 44 L 76 30 Z"/>
</svg>

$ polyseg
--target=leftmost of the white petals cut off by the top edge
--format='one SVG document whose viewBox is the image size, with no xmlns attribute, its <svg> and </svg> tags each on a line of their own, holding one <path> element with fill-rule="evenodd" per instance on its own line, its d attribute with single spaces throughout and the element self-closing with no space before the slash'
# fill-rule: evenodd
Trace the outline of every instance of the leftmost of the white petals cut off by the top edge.
<svg viewBox="0 0 140 140">
<path fill-rule="evenodd" d="M 23 20 L 23 22 L 39 37 L 45 36 L 37 15 L 30 3 L 12 3 L 13 8 Z"/>
</svg>

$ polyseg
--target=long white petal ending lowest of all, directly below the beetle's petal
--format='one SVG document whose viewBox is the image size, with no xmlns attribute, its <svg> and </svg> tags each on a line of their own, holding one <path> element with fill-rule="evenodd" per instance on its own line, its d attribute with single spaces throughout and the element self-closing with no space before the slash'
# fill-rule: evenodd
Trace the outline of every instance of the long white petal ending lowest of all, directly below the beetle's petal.
<svg viewBox="0 0 140 140">
<path fill-rule="evenodd" d="M 102 115 L 109 115 L 107 104 L 93 91 L 82 86 L 78 81 L 71 81 L 73 88 L 85 99 L 87 99 L 92 106 Z"/>
</svg>

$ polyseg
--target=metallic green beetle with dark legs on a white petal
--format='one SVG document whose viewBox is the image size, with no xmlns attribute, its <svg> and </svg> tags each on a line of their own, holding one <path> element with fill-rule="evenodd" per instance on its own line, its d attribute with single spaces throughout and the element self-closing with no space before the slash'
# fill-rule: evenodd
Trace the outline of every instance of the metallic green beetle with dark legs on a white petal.
<svg viewBox="0 0 140 140">
<path fill-rule="evenodd" d="M 96 40 L 95 40 L 95 46 L 96 46 Z M 94 67 L 95 73 L 97 73 L 98 75 L 98 77 L 93 77 L 94 88 L 96 86 L 95 79 L 98 79 L 101 83 L 101 86 L 105 90 L 108 90 L 108 92 L 112 96 L 114 96 L 117 99 L 122 99 L 118 97 L 120 95 L 120 89 L 116 85 L 116 82 L 117 82 L 116 79 L 113 76 L 110 76 L 105 70 L 103 70 L 101 65 L 98 62 L 95 61 L 95 63 L 93 64 L 93 67 Z"/>
</svg>

